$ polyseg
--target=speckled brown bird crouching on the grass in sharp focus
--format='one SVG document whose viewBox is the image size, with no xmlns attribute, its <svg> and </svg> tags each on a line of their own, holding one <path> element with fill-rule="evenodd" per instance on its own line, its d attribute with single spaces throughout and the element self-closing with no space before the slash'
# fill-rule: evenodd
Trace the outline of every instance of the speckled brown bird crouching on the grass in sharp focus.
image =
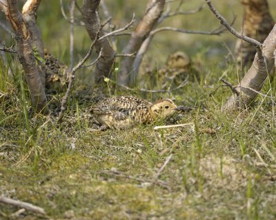
<svg viewBox="0 0 276 220">
<path fill-rule="evenodd" d="M 106 98 L 91 108 L 95 120 L 110 129 L 128 129 L 135 124 L 150 124 L 170 118 L 181 107 L 169 98 L 155 103 L 132 96 Z"/>
</svg>

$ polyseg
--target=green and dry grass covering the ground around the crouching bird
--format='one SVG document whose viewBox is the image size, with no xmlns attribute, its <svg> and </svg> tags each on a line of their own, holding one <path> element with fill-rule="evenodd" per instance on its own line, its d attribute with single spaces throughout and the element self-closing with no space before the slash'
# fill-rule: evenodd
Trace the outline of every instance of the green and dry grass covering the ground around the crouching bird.
<svg viewBox="0 0 276 220">
<path fill-rule="evenodd" d="M 47 41 L 59 28 L 52 22 L 55 14 L 57 8 L 41 21 L 52 23 L 43 37 L 55 54 L 66 58 L 68 48 L 59 45 L 62 39 L 56 46 L 52 39 Z M 169 45 L 169 39 L 164 34 L 159 40 Z M 208 95 L 223 73 L 237 84 L 238 67 L 221 58 L 226 48 L 216 39 L 204 41 L 201 47 L 190 45 L 193 61 L 201 63 L 200 80 L 170 94 L 177 104 L 194 108 L 177 123 L 195 122 L 195 126 L 158 131 L 153 126 L 95 129 L 89 109 L 99 89 L 83 85 L 81 76 L 62 124 L 55 123 L 62 94 L 50 96 L 52 115 L 30 115 L 19 61 L 7 55 L 9 73 L 0 60 L 0 194 L 41 206 L 47 213 L 26 211 L 17 216 L 13 213 L 18 208 L 0 203 L 0 219 L 275 219 L 275 169 L 259 165 L 276 164 L 273 102 L 259 96 L 246 111 L 221 112 L 231 92 L 222 88 Z M 208 41 L 219 46 L 219 56 L 210 55 Z M 152 44 L 158 47 L 159 43 Z M 83 52 L 81 48 L 78 52 Z M 150 52 L 159 53 L 154 63 L 164 59 L 160 51 Z M 130 95 L 109 85 L 103 89 L 108 96 Z M 150 89 L 159 86 L 157 81 Z M 275 87 L 275 82 L 266 83 L 262 93 L 275 96 Z M 131 95 L 148 100 L 167 96 L 140 91 Z"/>
</svg>

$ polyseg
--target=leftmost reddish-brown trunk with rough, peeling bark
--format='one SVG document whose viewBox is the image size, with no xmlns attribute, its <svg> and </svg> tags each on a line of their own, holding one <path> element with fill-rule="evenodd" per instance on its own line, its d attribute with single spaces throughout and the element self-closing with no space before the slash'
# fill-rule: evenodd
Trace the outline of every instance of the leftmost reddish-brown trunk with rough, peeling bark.
<svg viewBox="0 0 276 220">
<path fill-rule="evenodd" d="M 46 104 L 46 94 L 39 77 L 39 71 L 32 51 L 32 41 L 28 29 L 23 23 L 23 17 L 18 10 L 17 0 L 8 0 L 6 8 L 6 16 L 10 21 L 15 32 L 15 40 L 17 42 L 17 55 L 24 69 L 24 74 L 28 87 L 32 105 L 35 111 L 48 111 Z"/>
</svg>

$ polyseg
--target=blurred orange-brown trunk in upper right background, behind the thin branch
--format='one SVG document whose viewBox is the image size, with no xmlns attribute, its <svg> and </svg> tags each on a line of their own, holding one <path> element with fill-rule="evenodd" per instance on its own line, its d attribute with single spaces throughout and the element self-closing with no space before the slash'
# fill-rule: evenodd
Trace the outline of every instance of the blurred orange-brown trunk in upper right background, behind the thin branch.
<svg viewBox="0 0 276 220">
<path fill-rule="evenodd" d="M 275 22 L 270 15 L 266 0 L 240 0 L 244 8 L 244 24 L 242 34 L 263 43 Z M 256 48 L 254 45 L 237 40 L 235 54 L 237 62 L 245 67 L 254 60 Z"/>
</svg>

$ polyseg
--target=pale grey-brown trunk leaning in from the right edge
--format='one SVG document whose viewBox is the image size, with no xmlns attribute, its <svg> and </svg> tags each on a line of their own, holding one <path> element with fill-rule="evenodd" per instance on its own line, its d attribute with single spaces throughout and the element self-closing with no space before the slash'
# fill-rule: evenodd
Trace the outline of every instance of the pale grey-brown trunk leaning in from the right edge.
<svg viewBox="0 0 276 220">
<path fill-rule="evenodd" d="M 253 102 L 257 96 L 257 92 L 255 91 L 260 91 L 262 89 L 267 76 L 269 76 L 271 69 L 275 66 L 275 50 L 276 24 L 263 43 L 262 53 L 264 58 L 259 59 L 259 56 L 255 54 L 253 64 L 250 69 L 248 69 L 248 72 L 242 79 L 239 87 L 237 87 L 237 91 L 239 91 L 240 95 L 231 96 L 224 105 L 224 110 L 235 109 L 236 107 L 247 107 L 248 104 Z"/>
</svg>

